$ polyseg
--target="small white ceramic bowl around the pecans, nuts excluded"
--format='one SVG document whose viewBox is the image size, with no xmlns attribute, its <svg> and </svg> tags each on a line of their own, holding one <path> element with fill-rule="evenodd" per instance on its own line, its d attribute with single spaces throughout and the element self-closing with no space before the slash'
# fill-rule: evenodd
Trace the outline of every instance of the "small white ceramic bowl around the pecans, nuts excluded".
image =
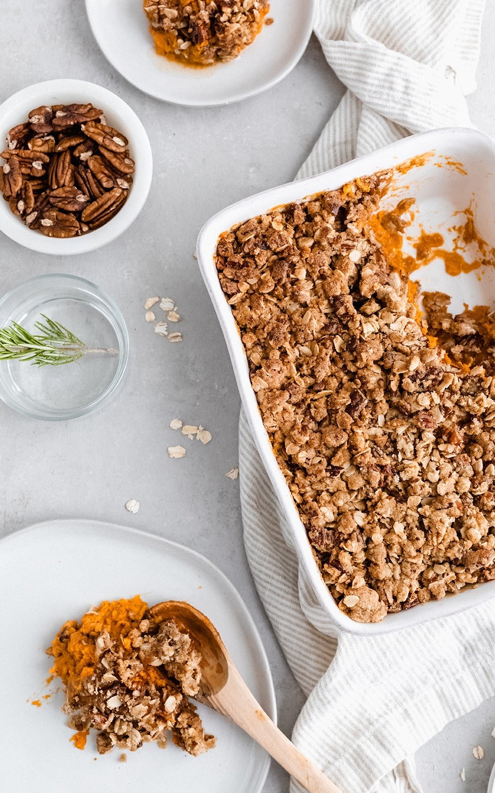
<svg viewBox="0 0 495 793">
<path fill-rule="evenodd" d="M 122 132 L 129 140 L 129 151 L 135 160 L 135 174 L 129 190 L 128 200 L 120 212 L 105 226 L 87 232 L 80 237 L 56 239 L 45 237 L 41 232 L 26 226 L 14 215 L 7 201 L 0 195 L 0 230 L 10 239 L 32 251 L 68 256 L 94 251 L 112 242 L 131 225 L 143 209 L 150 191 L 153 174 L 153 158 L 147 133 L 134 110 L 112 91 L 86 80 L 48 80 L 23 88 L 0 105 L 0 151 L 6 144 L 6 135 L 11 128 L 28 119 L 30 110 L 40 105 L 69 105 L 73 102 L 91 102 L 103 110 L 110 126 Z M 1 161 L 3 163 L 3 160 Z"/>
</svg>

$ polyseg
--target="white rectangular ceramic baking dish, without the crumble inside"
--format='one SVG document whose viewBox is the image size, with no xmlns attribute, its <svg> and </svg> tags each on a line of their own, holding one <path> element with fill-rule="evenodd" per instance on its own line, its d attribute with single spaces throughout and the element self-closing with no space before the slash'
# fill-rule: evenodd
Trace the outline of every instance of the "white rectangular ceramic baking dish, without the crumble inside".
<svg viewBox="0 0 495 793">
<path fill-rule="evenodd" d="M 452 232 L 449 227 L 465 220 L 461 214 L 468 206 L 474 213 L 474 223 L 479 234 L 489 246 L 495 247 L 495 143 L 488 136 L 473 129 L 446 128 L 422 132 L 379 151 L 354 159 L 341 167 L 318 174 L 300 182 L 274 187 L 264 193 L 245 198 L 208 220 L 200 232 L 197 242 L 197 258 L 200 270 L 210 293 L 211 301 L 219 317 L 227 341 L 230 359 L 253 432 L 257 450 L 265 465 L 272 487 L 284 508 L 287 521 L 294 534 L 299 561 L 303 565 L 319 602 L 336 626 L 353 634 L 384 634 L 390 630 L 408 628 L 430 619 L 455 614 L 495 595 L 495 581 L 477 588 L 466 588 L 455 596 L 431 601 L 409 611 L 387 615 L 382 623 L 356 623 L 337 607 L 326 584 L 323 583 L 311 552 L 306 530 L 287 488 L 284 475 L 276 463 L 268 435 L 263 426 L 257 400 L 249 381 L 246 354 L 238 333 L 230 306 L 220 287 L 215 267 L 215 248 L 219 234 L 234 224 L 267 212 L 272 207 L 301 201 L 304 197 L 322 190 L 334 190 L 365 174 L 383 168 L 394 167 L 409 158 L 432 152 L 432 157 L 423 165 L 399 175 L 392 195 L 383 198 L 383 206 L 391 208 L 401 198 L 416 199 L 415 218 L 408 234 L 440 232 L 444 235 L 445 248 L 449 248 Z M 451 163 L 451 164 L 448 164 Z M 461 163 L 462 168 L 455 163 Z M 465 171 L 465 173 L 463 172 Z M 407 251 L 407 241 L 405 249 Z M 466 260 L 474 260 L 478 250 L 467 251 Z M 480 278 L 481 276 L 481 278 Z M 444 262 L 436 260 L 421 268 L 413 278 L 419 278 L 424 289 L 440 289 L 452 295 L 451 307 L 462 309 L 463 302 L 473 305 L 493 303 L 495 294 L 495 268 L 486 271 L 474 270 L 456 278 L 445 273 Z"/>
</svg>

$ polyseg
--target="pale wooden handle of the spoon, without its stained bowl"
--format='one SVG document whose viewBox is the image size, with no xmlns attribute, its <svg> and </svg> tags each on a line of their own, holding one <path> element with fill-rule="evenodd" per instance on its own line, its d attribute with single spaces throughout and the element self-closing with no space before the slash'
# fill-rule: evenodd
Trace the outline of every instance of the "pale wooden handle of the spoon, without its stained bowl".
<svg viewBox="0 0 495 793">
<path fill-rule="evenodd" d="M 230 664 L 227 685 L 210 698 L 216 710 L 232 719 L 259 743 L 310 793 L 342 793 L 282 733 L 254 699 L 234 665 Z"/>
</svg>

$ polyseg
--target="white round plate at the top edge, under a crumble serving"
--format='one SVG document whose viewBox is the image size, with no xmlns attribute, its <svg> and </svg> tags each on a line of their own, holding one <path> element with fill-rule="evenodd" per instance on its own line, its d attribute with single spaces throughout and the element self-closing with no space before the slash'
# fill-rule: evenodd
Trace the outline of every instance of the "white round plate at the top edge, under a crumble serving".
<svg viewBox="0 0 495 793">
<path fill-rule="evenodd" d="M 271 0 L 253 44 L 229 63 L 194 69 L 154 51 L 141 0 L 86 0 L 89 24 L 112 66 L 145 94 L 176 105 L 224 105 L 271 88 L 303 55 L 315 0 Z"/>
</svg>

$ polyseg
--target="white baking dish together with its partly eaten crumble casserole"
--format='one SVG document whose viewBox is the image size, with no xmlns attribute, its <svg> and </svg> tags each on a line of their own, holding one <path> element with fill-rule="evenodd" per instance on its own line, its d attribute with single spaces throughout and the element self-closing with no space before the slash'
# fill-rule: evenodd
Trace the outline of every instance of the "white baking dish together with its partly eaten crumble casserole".
<svg viewBox="0 0 495 793">
<path fill-rule="evenodd" d="M 198 240 L 257 448 L 345 630 L 493 594 L 495 324 L 471 310 L 491 303 L 489 163 L 478 132 L 423 133 L 241 201 Z"/>
</svg>

